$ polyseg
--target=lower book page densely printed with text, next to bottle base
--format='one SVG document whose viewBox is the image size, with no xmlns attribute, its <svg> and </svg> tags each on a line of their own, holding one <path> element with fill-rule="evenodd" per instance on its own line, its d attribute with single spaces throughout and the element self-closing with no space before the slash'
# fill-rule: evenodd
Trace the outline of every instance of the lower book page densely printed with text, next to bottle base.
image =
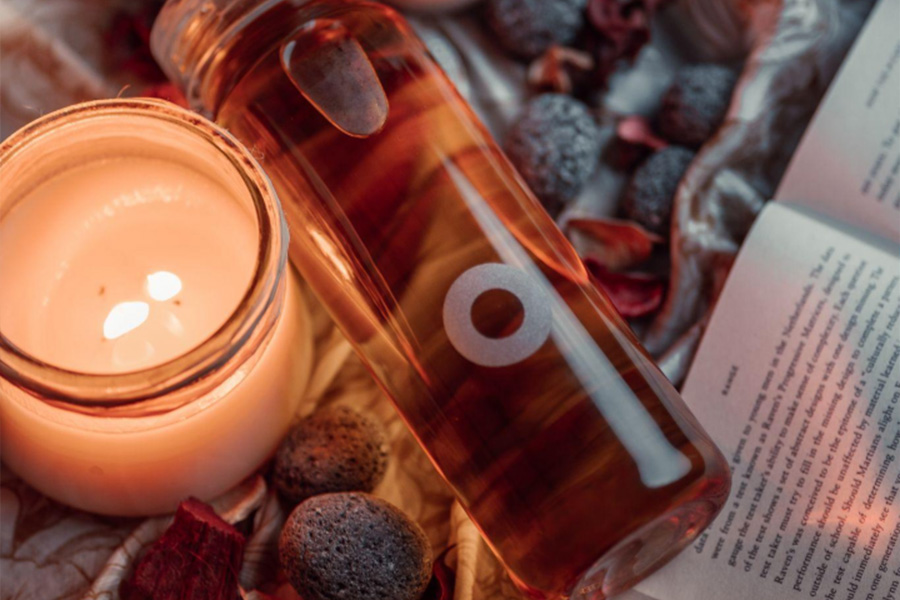
<svg viewBox="0 0 900 600">
<path fill-rule="evenodd" d="M 729 500 L 658 600 L 900 599 L 900 251 L 762 212 L 683 396 Z"/>
</svg>

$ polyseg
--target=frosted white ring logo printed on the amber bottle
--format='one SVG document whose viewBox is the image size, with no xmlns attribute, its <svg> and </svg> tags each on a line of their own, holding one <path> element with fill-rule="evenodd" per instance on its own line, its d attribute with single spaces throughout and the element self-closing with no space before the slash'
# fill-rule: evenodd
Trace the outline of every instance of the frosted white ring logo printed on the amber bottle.
<svg viewBox="0 0 900 600">
<path fill-rule="evenodd" d="M 475 301 L 491 290 L 508 292 L 522 304 L 522 324 L 506 337 L 488 337 L 472 322 Z M 544 345 L 553 323 L 547 294 L 527 273 L 502 263 L 484 263 L 463 272 L 447 292 L 443 318 L 447 337 L 457 352 L 483 367 L 522 362 Z"/>
</svg>

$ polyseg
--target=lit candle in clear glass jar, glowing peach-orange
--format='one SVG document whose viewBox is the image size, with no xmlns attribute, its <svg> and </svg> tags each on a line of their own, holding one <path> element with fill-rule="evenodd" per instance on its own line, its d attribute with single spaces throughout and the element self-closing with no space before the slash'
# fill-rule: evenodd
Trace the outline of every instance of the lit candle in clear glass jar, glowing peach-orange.
<svg viewBox="0 0 900 600">
<path fill-rule="evenodd" d="M 312 360 L 284 217 L 249 153 L 168 103 L 95 102 L 7 139 L 0 182 L 3 461 L 115 515 L 249 475 Z"/>
</svg>

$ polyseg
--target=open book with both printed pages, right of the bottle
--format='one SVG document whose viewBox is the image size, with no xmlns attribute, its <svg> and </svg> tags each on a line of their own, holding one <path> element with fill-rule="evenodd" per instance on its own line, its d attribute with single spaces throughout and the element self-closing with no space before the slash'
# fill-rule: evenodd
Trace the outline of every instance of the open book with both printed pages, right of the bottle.
<svg viewBox="0 0 900 600">
<path fill-rule="evenodd" d="M 900 0 L 873 10 L 775 200 L 683 391 L 731 497 L 629 600 L 900 600 Z"/>
</svg>

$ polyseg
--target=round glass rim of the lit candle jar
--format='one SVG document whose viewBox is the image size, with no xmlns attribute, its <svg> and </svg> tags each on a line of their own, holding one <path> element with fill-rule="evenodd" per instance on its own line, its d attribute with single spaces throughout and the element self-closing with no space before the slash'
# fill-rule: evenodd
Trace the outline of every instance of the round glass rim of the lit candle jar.
<svg viewBox="0 0 900 600">
<path fill-rule="evenodd" d="M 222 378 L 212 377 L 242 350 L 267 338 L 271 329 L 261 327 L 270 309 L 279 308 L 279 291 L 287 263 L 287 225 L 268 176 L 250 151 L 231 134 L 199 114 L 170 102 L 151 98 L 95 100 L 63 108 L 13 133 L 0 143 L 0 170 L 22 152 L 61 127 L 83 124 L 95 118 L 139 116 L 166 127 L 178 127 L 226 159 L 240 177 L 252 203 L 259 247 L 251 281 L 237 307 L 205 340 L 169 361 L 124 373 L 83 373 L 52 365 L 24 351 L 0 331 L 0 377 L 42 399 L 70 408 L 133 406 L 166 397 L 153 407 L 168 412 L 191 396 L 212 389 Z M 129 122 L 133 128 L 133 123 Z M 127 130 L 127 129 L 126 129 Z M 197 386 L 204 387 L 198 389 Z"/>
</svg>

